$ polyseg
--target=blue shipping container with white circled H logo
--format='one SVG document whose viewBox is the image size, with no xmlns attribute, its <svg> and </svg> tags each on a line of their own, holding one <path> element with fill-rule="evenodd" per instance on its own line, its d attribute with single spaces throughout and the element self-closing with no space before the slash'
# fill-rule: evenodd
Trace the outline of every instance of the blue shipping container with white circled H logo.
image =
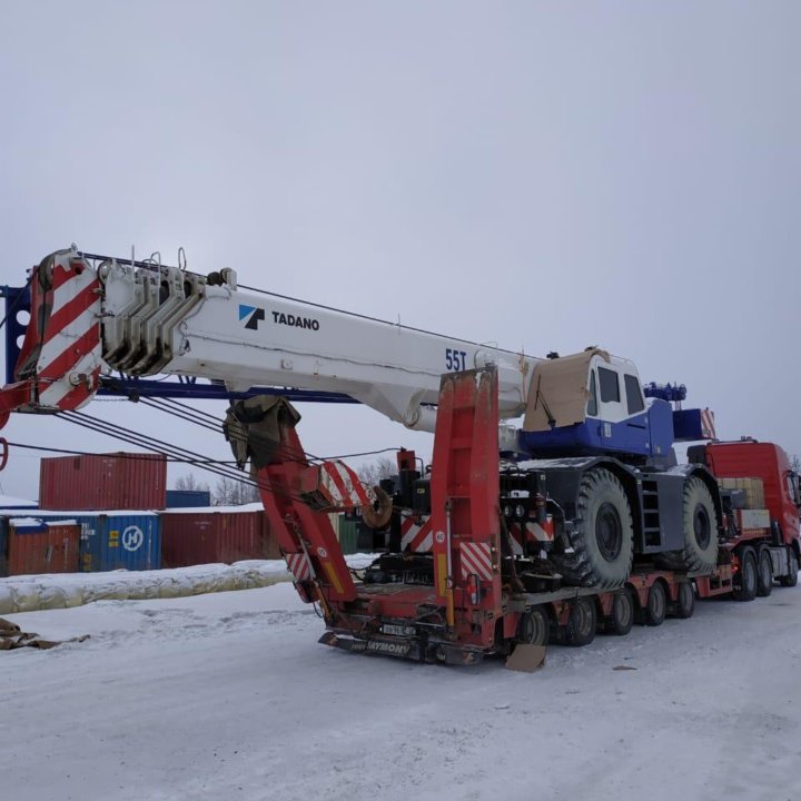
<svg viewBox="0 0 801 801">
<path fill-rule="evenodd" d="M 152 512 L 51 512 L 37 510 L 42 520 L 73 520 L 81 527 L 81 573 L 111 570 L 159 570 L 161 521 Z"/>
</svg>

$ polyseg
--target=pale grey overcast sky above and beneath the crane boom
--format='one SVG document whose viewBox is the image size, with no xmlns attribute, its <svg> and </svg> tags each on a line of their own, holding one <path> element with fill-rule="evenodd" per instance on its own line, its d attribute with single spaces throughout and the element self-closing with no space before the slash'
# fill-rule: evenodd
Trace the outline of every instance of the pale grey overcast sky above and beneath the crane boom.
<svg viewBox="0 0 801 801">
<path fill-rule="evenodd" d="M 454 336 L 601 345 L 721 436 L 801 454 L 800 32 L 794 0 L 0 0 L 0 283 L 72 241 L 184 246 Z M 301 412 L 314 453 L 431 451 L 364 407 Z M 49 418 L 3 434 L 118 448 Z M 18 449 L 0 486 L 37 476 Z"/>
</svg>

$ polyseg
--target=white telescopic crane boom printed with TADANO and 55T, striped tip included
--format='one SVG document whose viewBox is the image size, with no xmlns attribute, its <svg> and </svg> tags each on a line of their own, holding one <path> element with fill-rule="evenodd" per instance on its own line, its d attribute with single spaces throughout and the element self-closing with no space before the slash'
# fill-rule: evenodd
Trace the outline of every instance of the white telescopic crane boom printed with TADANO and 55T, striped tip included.
<svg viewBox="0 0 801 801">
<path fill-rule="evenodd" d="M 30 327 L 40 340 L 26 339 L 20 377 L 37 376 L 30 405 L 39 409 L 77 408 L 97 389 L 100 372 L 117 369 L 218 379 L 230 390 L 343 393 L 409 428 L 434 431 L 443 373 L 495 364 L 500 413 L 513 418 L 524 412 L 540 360 L 240 290 L 230 269 L 201 276 L 70 249 L 34 268 L 33 294 L 31 312 L 43 324 Z"/>
</svg>

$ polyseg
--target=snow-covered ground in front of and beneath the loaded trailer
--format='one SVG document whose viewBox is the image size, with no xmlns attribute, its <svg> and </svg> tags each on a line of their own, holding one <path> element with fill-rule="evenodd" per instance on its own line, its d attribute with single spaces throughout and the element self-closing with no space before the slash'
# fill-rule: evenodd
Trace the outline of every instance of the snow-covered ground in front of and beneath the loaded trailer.
<svg viewBox="0 0 801 801">
<path fill-rule="evenodd" d="M 318 645 L 288 583 L 10 617 L 91 634 L 0 652 L 10 801 L 801 799 L 798 589 L 534 674 Z"/>
</svg>

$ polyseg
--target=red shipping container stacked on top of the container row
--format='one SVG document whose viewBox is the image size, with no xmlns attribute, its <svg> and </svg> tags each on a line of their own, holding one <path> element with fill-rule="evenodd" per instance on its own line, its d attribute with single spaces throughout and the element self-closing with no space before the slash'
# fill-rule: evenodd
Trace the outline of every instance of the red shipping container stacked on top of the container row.
<svg viewBox="0 0 801 801">
<path fill-rule="evenodd" d="M 43 458 L 39 468 L 43 510 L 156 510 L 166 496 L 162 454 L 61 456 Z"/>
</svg>

